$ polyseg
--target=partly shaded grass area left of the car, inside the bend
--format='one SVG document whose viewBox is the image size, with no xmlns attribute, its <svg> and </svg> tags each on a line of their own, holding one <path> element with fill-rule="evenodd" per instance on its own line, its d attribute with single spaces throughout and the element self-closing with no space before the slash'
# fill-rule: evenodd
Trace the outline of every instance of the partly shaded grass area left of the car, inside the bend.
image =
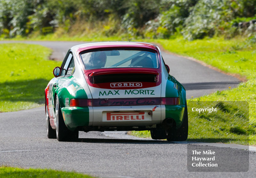
<svg viewBox="0 0 256 178">
<path fill-rule="evenodd" d="M 44 89 L 60 62 L 49 60 L 51 50 L 32 44 L 0 44 L 0 112 L 44 104 Z"/>
</svg>

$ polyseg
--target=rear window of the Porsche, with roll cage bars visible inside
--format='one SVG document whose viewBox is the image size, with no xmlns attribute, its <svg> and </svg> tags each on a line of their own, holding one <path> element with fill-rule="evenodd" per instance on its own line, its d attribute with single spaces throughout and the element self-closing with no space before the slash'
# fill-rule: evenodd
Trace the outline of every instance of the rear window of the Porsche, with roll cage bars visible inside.
<svg viewBox="0 0 256 178">
<path fill-rule="evenodd" d="M 101 68 L 158 68 L 158 57 L 154 51 L 146 50 L 98 50 L 81 53 L 85 69 Z"/>
</svg>

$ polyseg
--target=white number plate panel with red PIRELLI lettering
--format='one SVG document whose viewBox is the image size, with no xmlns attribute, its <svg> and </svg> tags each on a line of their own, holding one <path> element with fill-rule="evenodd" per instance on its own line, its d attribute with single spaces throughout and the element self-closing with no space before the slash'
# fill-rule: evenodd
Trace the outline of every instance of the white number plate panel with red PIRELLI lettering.
<svg viewBox="0 0 256 178">
<path fill-rule="evenodd" d="M 152 120 L 152 114 L 148 114 L 150 111 L 132 111 L 132 112 L 103 112 L 102 120 L 104 122 L 111 121 L 142 121 Z"/>
</svg>

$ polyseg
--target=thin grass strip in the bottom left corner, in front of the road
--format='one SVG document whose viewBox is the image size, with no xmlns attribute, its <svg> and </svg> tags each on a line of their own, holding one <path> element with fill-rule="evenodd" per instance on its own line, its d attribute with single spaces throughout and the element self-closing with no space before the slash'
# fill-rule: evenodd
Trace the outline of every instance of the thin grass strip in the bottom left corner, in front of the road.
<svg viewBox="0 0 256 178">
<path fill-rule="evenodd" d="M 0 167 L 0 177 L 16 178 L 16 177 L 38 177 L 38 178 L 92 178 L 92 176 L 79 174 L 75 172 L 55 171 L 52 169 L 22 169 L 17 167 Z"/>
</svg>

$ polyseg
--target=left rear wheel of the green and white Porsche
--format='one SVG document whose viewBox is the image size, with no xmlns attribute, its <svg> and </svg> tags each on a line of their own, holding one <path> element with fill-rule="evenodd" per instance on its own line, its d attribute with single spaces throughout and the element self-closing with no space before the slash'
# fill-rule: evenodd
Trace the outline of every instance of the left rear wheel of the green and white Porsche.
<svg viewBox="0 0 256 178">
<path fill-rule="evenodd" d="M 63 116 L 61 114 L 60 110 L 60 103 L 58 96 L 56 97 L 55 101 L 55 117 L 56 117 L 56 135 L 58 141 L 68 141 L 68 140 L 74 140 L 78 138 L 78 130 L 75 130 L 74 132 L 68 130 L 67 126 L 65 125 L 65 122 L 63 120 Z"/>
</svg>

